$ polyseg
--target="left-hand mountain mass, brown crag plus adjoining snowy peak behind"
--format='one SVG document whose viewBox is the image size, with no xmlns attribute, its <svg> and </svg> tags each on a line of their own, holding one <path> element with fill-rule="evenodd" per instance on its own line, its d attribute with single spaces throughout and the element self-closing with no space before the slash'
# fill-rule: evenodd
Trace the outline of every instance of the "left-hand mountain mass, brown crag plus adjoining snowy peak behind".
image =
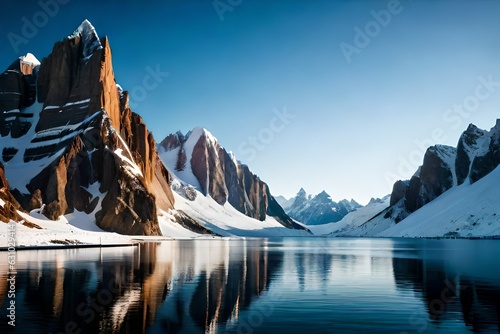
<svg viewBox="0 0 500 334">
<path fill-rule="evenodd" d="M 0 219 L 24 222 L 18 226 L 21 244 L 52 243 L 64 233 L 87 242 L 104 231 L 180 237 L 309 233 L 208 131 L 195 131 L 191 148 L 179 136 L 195 162 L 183 162 L 182 151 L 172 168 L 179 173 L 193 166 L 197 178 L 184 180 L 198 190 L 172 175 L 142 118 L 130 109 L 128 92 L 116 83 L 107 37 L 99 38 L 87 20 L 42 62 L 32 54 L 16 59 L 0 75 L 0 92 Z M 174 194 L 171 182 L 184 195 L 210 196 L 187 200 Z M 229 204 L 220 206 L 225 200 Z M 41 232 L 29 238 L 24 231 L 33 226 Z M 57 237 L 49 231 L 55 226 L 66 226 L 57 228 Z"/>
</svg>

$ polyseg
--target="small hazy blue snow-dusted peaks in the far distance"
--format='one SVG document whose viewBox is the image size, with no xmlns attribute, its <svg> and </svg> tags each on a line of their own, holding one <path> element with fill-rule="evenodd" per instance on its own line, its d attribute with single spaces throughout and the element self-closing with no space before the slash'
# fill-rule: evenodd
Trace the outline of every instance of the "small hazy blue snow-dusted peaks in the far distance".
<svg viewBox="0 0 500 334">
<path fill-rule="evenodd" d="M 316 196 L 308 195 L 301 188 L 297 195 L 283 202 L 286 213 L 293 219 L 306 225 L 321 225 L 338 222 L 349 212 L 362 207 L 355 200 L 334 202 L 325 191 Z"/>
</svg>

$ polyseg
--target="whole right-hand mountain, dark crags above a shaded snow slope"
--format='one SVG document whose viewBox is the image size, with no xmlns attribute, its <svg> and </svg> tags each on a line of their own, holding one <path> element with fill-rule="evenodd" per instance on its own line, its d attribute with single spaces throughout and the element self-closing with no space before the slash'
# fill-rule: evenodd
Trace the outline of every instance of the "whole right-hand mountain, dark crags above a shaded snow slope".
<svg viewBox="0 0 500 334">
<path fill-rule="evenodd" d="M 429 147 L 409 181 L 394 184 L 390 206 L 349 236 L 492 236 L 500 234 L 500 120 L 471 124 L 457 147 Z"/>
</svg>

